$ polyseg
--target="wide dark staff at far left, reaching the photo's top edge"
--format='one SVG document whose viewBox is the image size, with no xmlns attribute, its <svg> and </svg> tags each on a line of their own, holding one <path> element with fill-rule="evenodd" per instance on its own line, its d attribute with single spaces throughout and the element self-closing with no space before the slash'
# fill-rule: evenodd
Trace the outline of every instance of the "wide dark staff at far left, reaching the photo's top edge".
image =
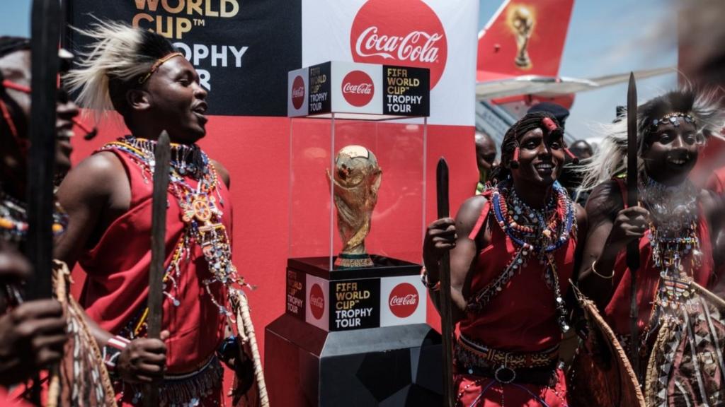
<svg viewBox="0 0 725 407">
<path fill-rule="evenodd" d="M 53 173 L 60 11 L 57 0 L 33 0 L 30 12 L 30 157 L 28 160 L 28 240 L 25 253 L 33 265 L 30 300 L 53 295 Z M 57 366 L 51 369 L 57 369 Z M 41 405 L 36 375 L 30 399 Z"/>
</svg>

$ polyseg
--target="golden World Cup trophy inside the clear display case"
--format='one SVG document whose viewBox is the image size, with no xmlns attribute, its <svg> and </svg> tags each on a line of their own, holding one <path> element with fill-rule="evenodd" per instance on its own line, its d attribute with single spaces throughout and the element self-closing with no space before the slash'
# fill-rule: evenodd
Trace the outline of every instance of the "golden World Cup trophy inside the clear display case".
<svg viewBox="0 0 725 407">
<path fill-rule="evenodd" d="M 363 146 L 345 146 L 335 157 L 333 198 L 337 208 L 337 228 L 342 238 L 342 251 L 335 267 L 352 269 L 372 267 L 373 260 L 365 252 L 365 237 L 370 232 L 370 217 L 378 202 L 378 188 L 383 171 L 373 151 Z"/>
</svg>

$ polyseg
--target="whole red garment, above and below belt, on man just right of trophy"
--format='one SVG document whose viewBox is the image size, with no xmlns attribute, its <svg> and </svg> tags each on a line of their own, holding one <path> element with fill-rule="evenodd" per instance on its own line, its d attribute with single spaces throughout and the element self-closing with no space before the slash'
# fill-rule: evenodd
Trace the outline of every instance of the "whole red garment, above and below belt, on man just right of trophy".
<svg viewBox="0 0 725 407">
<path fill-rule="evenodd" d="M 488 197 L 490 198 L 490 196 Z M 482 217 L 493 217 L 490 201 Z M 476 260 L 471 280 L 471 293 L 475 295 L 506 268 L 516 247 L 496 222 L 490 219 L 479 225 L 491 225 L 491 243 Z M 474 230 L 475 237 L 479 230 Z M 574 267 L 576 238 L 555 251 L 561 293 L 569 288 Z M 554 305 L 554 291 L 544 282 L 544 269 L 536 256 L 529 256 L 526 267 L 505 285 L 480 313 L 468 312 L 460 322 L 461 335 L 499 351 L 526 353 L 544 351 L 557 346 L 561 331 Z M 502 384 L 489 377 L 460 374 L 457 377 L 459 400 L 463 406 L 566 406 L 566 383 L 563 372 L 557 372 L 554 387 L 528 384 Z"/>
</svg>

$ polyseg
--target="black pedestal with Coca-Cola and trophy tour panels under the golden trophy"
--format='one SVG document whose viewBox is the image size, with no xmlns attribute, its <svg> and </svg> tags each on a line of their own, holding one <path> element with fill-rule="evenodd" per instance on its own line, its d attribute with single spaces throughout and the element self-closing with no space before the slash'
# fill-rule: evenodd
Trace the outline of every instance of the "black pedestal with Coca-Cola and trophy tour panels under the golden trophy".
<svg viewBox="0 0 725 407">
<path fill-rule="evenodd" d="M 286 313 L 266 328 L 272 406 L 442 404 L 441 337 L 426 324 L 419 264 L 330 269 L 289 259 Z"/>
</svg>

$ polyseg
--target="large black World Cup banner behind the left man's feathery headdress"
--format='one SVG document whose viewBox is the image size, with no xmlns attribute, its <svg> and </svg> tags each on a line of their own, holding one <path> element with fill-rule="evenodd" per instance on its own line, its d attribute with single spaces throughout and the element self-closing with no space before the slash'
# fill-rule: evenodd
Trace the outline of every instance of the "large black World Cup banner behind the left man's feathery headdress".
<svg viewBox="0 0 725 407">
<path fill-rule="evenodd" d="M 287 114 L 287 72 L 302 65 L 301 0 L 68 0 L 67 13 L 77 28 L 98 17 L 165 35 L 210 91 L 209 114 Z M 86 45 L 69 39 L 72 50 Z"/>
</svg>

